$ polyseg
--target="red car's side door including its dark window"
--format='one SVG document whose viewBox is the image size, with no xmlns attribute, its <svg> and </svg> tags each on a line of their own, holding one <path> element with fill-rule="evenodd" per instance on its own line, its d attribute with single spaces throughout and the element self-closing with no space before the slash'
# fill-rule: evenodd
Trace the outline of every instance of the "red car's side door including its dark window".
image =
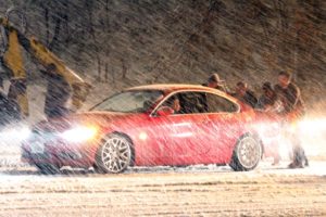
<svg viewBox="0 0 326 217">
<path fill-rule="evenodd" d="M 202 163 L 201 156 L 209 152 L 204 141 L 209 123 L 201 102 L 201 92 L 184 91 L 172 95 L 180 101 L 180 111 L 168 116 L 154 117 L 155 130 L 162 162 L 168 165 L 189 165 Z M 168 106 L 168 99 L 161 106 Z"/>
</svg>

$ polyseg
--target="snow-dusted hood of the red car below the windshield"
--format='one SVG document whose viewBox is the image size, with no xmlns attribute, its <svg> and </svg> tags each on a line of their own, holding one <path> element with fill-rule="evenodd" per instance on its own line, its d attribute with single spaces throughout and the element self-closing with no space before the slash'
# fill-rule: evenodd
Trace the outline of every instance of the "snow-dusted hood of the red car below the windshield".
<svg viewBox="0 0 326 217">
<path fill-rule="evenodd" d="M 61 118 L 43 120 L 34 126 L 35 131 L 61 132 L 75 126 L 108 127 L 116 122 L 126 122 L 139 114 L 114 113 L 114 112 L 85 112 Z"/>
</svg>

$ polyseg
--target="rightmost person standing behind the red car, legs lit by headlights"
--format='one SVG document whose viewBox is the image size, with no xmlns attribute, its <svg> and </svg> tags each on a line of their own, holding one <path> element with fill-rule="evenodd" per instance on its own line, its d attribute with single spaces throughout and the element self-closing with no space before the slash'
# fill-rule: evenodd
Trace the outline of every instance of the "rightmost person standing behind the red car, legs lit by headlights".
<svg viewBox="0 0 326 217">
<path fill-rule="evenodd" d="M 300 89 L 291 82 L 291 74 L 287 72 L 280 72 L 278 74 L 278 84 L 275 86 L 275 92 L 283 102 L 285 118 L 294 116 L 294 119 L 298 119 L 303 117 L 305 113 L 304 103 L 301 98 Z M 289 126 L 287 126 L 287 128 L 289 128 Z M 305 166 L 309 166 L 309 162 L 301 145 L 298 129 L 296 128 L 293 131 L 294 132 L 288 132 L 293 150 L 293 161 L 289 165 L 289 168 L 302 168 L 303 162 L 305 162 Z"/>
</svg>

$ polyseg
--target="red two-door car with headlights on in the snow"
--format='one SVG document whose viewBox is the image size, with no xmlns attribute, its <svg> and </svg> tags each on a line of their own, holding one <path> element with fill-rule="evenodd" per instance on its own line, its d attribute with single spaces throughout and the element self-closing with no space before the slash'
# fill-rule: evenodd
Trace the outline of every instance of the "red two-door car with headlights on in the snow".
<svg viewBox="0 0 326 217">
<path fill-rule="evenodd" d="M 62 166 L 121 173 L 128 166 L 228 164 L 251 170 L 263 144 L 256 113 L 215 89 L 152 85 L 126 89 L 90 112 L 36 125 L 22 158 L 42 173 Z"/>
</svg>

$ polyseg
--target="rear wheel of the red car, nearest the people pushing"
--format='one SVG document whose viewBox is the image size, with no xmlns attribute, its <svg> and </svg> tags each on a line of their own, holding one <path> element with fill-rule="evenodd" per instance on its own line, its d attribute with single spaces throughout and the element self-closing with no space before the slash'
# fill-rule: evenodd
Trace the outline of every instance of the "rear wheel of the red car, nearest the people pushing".
<svg viewBox="0 0 326 217">
<path fill-rule="evenodd" d="M 262 158 L 262 145 L 251 135 L 241 137 L 234 150 L 229 166 L 236 171 L 254 169 Z"/>
</svg>

